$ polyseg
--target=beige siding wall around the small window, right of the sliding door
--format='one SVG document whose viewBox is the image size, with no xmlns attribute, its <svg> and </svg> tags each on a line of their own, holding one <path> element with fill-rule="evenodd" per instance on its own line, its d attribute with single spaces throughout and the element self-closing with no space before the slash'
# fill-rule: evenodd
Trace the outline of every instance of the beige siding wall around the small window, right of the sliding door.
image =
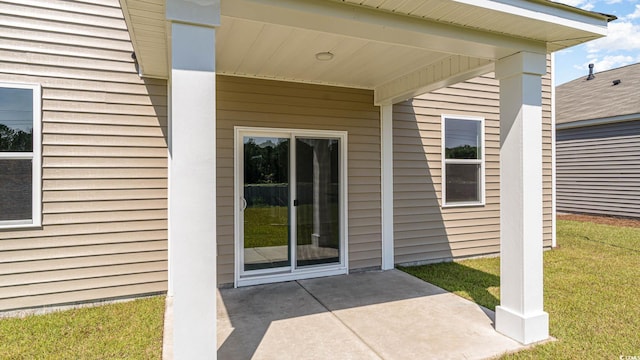
<svg viewBox="0 0 640 360">
<path fill-rule="evenodd" d="M 551 82 L 543 79 L 544 244 L 551 245 Z M 394 106 L 396 263 L 436 262 L 500 251 L 500 108 L 493 74 Z M 485 119 L 484 206 L 441 207 L 441 116 Z"/>
</svg>

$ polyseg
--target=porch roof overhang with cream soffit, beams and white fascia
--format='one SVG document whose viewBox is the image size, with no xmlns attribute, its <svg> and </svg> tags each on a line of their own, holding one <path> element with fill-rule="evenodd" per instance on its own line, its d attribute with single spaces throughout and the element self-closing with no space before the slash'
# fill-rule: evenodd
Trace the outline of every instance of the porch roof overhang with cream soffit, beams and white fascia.
<svg viewBox="0 0 640 360">
<path fill-rule="evenodd" d="M 169 76 L 175 1 L 120 0 L 143 76 Z M 217 73 L 372 89 L 376 103 L 490 72 L 521 51 L 605 36 L 613 19 L 527 0 L 220 0 L 220 13 Z"/>
</svg>

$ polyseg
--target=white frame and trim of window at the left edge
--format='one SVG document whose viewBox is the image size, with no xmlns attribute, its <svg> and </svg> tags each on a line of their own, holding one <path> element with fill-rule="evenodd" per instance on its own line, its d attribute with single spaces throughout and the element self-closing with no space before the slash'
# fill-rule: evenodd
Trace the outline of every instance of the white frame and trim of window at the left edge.
<svg viewBox="0 0 640 360">
<path fill-rule="evenodd" d="M 0 159 L 32 159 L 31 219 L 0 220 L 0 229 L 42 225 L 42 88 L 39 84 L 0 82 L 0 88 L 30 89 L 33 92 L 33 152 L 0 152 Z"/>
</svg>

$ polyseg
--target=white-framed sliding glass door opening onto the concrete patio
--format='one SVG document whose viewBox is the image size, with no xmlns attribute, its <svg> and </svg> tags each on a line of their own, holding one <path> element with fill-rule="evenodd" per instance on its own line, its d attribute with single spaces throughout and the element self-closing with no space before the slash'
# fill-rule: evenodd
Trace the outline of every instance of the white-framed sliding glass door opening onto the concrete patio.
<svg viewBox="0 0 640 360">
<path fill-rule="evenodd" d="M 343 137 L 264 130 L 238 137 L 240 274 L 344 267 Z"/>
</svg>

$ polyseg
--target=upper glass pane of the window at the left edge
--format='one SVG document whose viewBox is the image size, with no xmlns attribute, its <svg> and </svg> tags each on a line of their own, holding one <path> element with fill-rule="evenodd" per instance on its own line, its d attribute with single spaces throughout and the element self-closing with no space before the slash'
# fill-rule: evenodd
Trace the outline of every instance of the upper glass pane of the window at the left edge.
<svg viewBox="0 0 640 360">
<path fill-rule="evenodd" d="M 33 90 L 0 87 L 0 151 L 33 151 Z"/>
</svg>

